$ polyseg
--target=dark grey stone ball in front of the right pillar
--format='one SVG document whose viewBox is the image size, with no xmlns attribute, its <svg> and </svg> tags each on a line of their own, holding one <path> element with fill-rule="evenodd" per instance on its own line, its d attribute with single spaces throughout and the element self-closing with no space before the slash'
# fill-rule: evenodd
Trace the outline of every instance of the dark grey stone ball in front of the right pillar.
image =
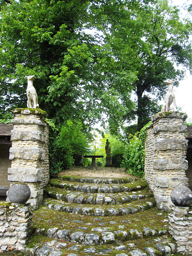
<svg viewBox="0 0 192 256">
<path fill-rule="evenodd" d="M 184 185 L 178 185 L 171 192 L 171 200 L 175 206 L 190 206 L 192 203 L 192 191 Z"/>
</svg>

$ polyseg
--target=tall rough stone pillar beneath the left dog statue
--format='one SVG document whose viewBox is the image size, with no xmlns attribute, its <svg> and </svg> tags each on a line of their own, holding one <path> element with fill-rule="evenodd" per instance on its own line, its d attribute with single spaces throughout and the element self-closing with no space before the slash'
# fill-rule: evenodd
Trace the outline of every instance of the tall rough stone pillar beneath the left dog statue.
<svg viewBox="0 0 192 256">
<path fill-rule="evenodd" d="M 18 108 L 13 110 L 14 128 L 11 132 L 11 168 L 8 180 L 25 182 L 31 190 L 27 203 L 37 209 L 43 199 L 43 188 L 49 181 L 48 124 L 46 112 L 36 109 Z"/>
</svg>

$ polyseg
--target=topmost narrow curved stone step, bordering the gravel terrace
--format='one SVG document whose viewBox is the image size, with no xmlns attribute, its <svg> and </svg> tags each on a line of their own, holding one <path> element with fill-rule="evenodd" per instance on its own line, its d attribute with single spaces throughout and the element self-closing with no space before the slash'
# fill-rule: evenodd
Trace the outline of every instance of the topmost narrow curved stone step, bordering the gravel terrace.
<svg viewBox="0 0 192 256">
<path fill-rule="evenodd" d="M 140 180 L 140 178 L 85 178 L 73 176 L 59 176 L 60 180 L 67 180 L 70 182 L 88 183 L 88 184 L 126 184 Z M 52 179 L 57 180 L 57 179 Z"/>
</svg>

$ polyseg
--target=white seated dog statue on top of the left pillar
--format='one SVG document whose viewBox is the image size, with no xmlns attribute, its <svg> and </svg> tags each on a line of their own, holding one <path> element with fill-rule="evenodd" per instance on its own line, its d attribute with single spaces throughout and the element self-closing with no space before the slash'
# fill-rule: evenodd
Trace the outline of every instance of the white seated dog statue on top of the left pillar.
<svg viewBox="0 0 192 256">
<path fill-rule="evenodd" d="M 25 78 L 27 79 L 27 107 L 39 108 L 37 93 L 33 86 L 35 76 L 25 76 Z"/>
</svg>

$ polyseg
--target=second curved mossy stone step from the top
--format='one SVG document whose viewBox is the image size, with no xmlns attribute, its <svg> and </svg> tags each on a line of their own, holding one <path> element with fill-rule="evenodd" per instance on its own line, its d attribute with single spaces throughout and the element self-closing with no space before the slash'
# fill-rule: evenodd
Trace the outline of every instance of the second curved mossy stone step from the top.
<svg viewBox="0 0 192 256">
<path fill-rule="evenodd" d="M 64 188 L 67 190 L 73 190 L 83 193 L 119 193 L 127 191 L 136 191 L 147 187 L 145 181 L 139 180 L 136 182 L 130 182 L 128 184 L 104 184 L 104 185 L 92 185 L 92 184 L 76 184 L 68 182 L 60 182 L 56 180 L 50 180 L 49 184 L 56 188 Z"/>
</svg>

